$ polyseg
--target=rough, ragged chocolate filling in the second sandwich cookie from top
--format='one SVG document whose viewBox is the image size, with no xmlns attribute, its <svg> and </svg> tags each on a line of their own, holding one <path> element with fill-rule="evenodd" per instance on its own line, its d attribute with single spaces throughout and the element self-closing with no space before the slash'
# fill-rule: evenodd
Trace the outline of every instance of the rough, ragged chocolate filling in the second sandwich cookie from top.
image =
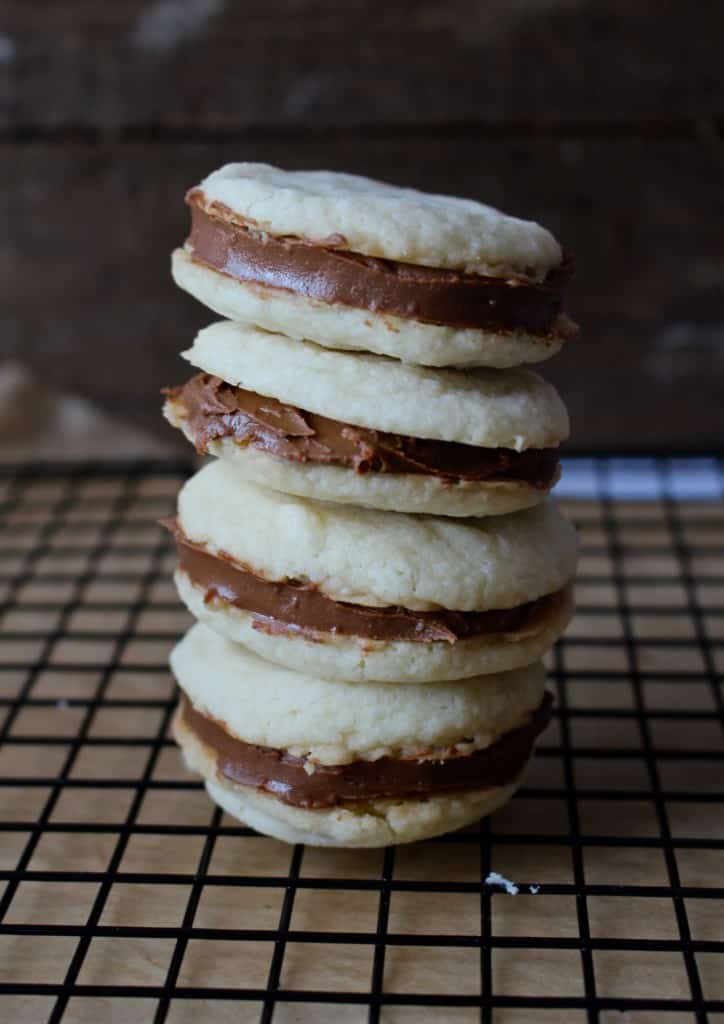
<svg viewBox="0 0 724 1024">
<path fill-rule="evenodd" d="M 485 449 L 355 427 L 265 398 L 198 374 L 168 388 L 181 407 L 199 452 L 232 437 L 280 459 L 344 466 L 356 473 L 416 473 L 457 480 L 526 482 L 545 489 L 558 467 L 557 449 Z"/>
</svg>

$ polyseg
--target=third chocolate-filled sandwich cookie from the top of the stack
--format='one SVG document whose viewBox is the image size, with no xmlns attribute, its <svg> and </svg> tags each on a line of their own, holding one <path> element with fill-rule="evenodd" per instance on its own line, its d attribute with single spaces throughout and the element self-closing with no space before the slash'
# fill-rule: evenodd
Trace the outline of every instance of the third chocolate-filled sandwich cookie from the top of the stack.
<svg viewBox="0 0 724 1024">
<path fill-rule="evenodd" d="M 555 506 L 488 519 L 311 502 L 223 461 L 181 489 L 175 580 L 190 611 L 326 679 L 462 679 L 539 658 L 571 614 L 572 526 Z"/>
</svg>

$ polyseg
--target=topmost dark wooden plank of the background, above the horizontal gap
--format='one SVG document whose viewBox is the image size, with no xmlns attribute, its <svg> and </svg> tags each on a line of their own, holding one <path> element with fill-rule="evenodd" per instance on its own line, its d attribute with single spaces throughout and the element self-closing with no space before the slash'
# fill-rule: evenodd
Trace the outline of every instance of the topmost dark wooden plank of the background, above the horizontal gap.
<svg viewBox="0 0 724 1024">
<path fill-rule="evenodd" d="M 724 114 L 724 6 L 24 0 L 0 123 L 248 127 Z"/>
</svg>

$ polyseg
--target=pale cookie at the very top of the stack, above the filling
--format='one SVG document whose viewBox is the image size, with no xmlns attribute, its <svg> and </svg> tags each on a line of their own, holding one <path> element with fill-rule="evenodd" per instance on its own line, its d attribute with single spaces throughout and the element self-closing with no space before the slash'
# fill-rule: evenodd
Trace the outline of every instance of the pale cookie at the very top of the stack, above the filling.
<svg viewBox="0 0 724 1024">
<path fill-rule="evenodd" d="M 205 204 L 227 207 L 271 234 L 382 259 L 530 281 L 542 281 L 563 259 L 550 231 L 533 221 L 356 174 L 227 164 L 199 190 Z"/>
</svg>

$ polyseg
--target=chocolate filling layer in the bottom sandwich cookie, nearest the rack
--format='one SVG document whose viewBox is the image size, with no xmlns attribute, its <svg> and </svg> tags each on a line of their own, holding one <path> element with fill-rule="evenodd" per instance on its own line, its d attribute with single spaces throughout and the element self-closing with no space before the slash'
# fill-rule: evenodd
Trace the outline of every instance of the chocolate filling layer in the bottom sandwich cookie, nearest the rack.
<svg viewBox="0 0 724 1024">
<path fill-rule="evenodd" d="M 253 785 L 295 807 L 337 807 L 365 800 L 427 797 L 464 790 L 484 790 L 511 782 L 533 751 L 536 737 L 551 718 L 553 698 L 546 693 L 525 725 L 504 733 L 491 746 L 444 761 L 379 758 L 347 765 L 314 765 L 286 751 L 257 746 L 230 736 L 221 722 L 202 715 L 181 697 L 184 725 L 216 755 L 222 779 Z"/>
</svg>

